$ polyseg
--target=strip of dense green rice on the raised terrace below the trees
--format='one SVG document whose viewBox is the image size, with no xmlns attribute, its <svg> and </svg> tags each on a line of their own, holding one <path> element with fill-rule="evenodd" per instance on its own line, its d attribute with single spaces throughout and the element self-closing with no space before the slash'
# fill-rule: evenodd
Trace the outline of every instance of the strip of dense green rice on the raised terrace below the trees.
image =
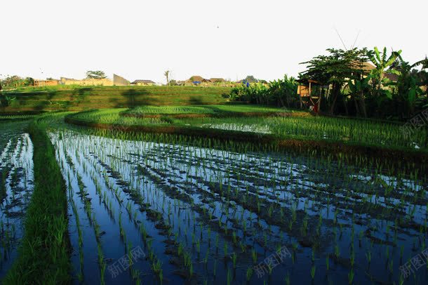
<svg viewBox="0 0 428 285">
<path fill-rule="evenodd" d="M 182 124 L 232 131 L 253 128 L 277 138 L 328 140 L 375 147 L 396 147 L 408 150 L 428 150 L 427 131 L 421 128 L 406 137 L 399 124 L 387 124 L 357 119 L 331 117 L 265 117 L 181 119 Z"/>
</svg>

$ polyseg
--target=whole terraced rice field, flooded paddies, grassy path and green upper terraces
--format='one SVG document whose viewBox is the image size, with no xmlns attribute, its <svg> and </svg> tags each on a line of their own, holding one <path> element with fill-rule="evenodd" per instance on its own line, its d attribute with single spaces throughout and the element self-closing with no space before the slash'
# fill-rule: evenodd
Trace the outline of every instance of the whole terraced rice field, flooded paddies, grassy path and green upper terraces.
<svg viewBox="0 0 428 285">
<path fill-rule="evenodd" d="M 1 120 L 1 282 L 427 283 L 424 129 L 212 107 Z"/>
</svg>

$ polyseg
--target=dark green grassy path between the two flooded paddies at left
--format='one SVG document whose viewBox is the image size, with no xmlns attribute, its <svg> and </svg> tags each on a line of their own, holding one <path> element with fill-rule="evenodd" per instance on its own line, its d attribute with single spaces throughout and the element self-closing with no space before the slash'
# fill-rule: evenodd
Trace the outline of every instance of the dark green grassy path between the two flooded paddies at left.
<svg viewBox="0 0 428 285">
<path fill-rule="evenodd" d="M 4 284 L 69 283 L 69 237 L 65 183 L 44 127 L 33 123 L 34 193 L 27 209 L 19 255 Z"/>
</svg>

